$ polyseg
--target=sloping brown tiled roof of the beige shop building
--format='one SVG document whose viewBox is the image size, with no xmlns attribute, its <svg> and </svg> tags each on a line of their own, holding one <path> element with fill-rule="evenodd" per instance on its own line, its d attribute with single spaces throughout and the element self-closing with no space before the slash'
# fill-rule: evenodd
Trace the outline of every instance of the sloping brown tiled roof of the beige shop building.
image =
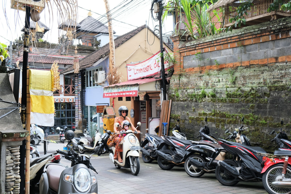
<svg viewBox="0 0 291 194">
<path fill-rule="evenodd" d="M 140 26 L 139 28 L 130 31 L 124 35 L 118 36 L 114 39 L 115 48 L 122 45 L 124 42 L 132 38 L 134 35 L 139 33 L 141 30 L 143 30 L 146 27 L 146 25 Z M 107 56 L 110 53 L 109 51 L 109 43 L 98 49 L 97 51 L 94 51 L 93 53 L 87 55 L 85 58 L 79 60 L 79 66 L 80 70 L 85 69 L 87 67 L 91 67 L 96 61 L 98 61 L 100 58 Z M 68 67 L 67 69 L 63 70 L 61 73 L 64 74 L 66 72 L 73 71 L 72 65 Z"/>
</svg>

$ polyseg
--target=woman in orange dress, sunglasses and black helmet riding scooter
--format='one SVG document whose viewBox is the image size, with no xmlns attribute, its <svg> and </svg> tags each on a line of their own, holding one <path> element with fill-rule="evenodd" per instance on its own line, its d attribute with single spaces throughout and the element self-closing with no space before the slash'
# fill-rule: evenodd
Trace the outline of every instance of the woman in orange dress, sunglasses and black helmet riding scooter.
<svg viewBox="0 0 291 194">
<path fill-rule="evenodd" d="M 130 121 L 130 119 L 127 117 L 128 108 L 126 106 L 120 106 L 118 108 L 118 113 L 119 113 L 119 117 L 116 117 L 114 119 L 114 123 L 117 123 L 118 122 L 120 124 L 120 126 L 121 126 L 121 123 L 123 121 L 128 121 L 129 124 L 131 125 L 132 131 L 140 132 L 140 131 L 136 130 L 136 128 L 133 126 L 133 124 Z M 119 134 L 121 128 L 120 127 L 116 127 L 114 125 L 113 130 L 114 130 L 115 133 Z M 121 156 L 120 156 L 120 152 L 122 152 L 122 144 L 120 144 L 120 142 L 121 142 L 121 138 L 119 136 L 116 136 L 116 138 L 114 139 L 114 143 L 116 145 L 115 146 L 115 153 L 114 153 L 114 160 L 117 160 L 118 159 L 118 162 L 122 163 L 123 161 L 122 161 Z"/>
</svg>

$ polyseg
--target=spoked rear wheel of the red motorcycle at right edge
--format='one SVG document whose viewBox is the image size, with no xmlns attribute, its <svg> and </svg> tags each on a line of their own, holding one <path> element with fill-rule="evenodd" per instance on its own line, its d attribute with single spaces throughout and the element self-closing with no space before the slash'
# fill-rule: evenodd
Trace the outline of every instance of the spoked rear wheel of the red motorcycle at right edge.
<svg viewBox="0 0 291 194">
<path fill-rule="evenodd" d="M 272 165 L 270 168 L 266 170 L 263 175 L 263 186 L 266 191 L 270 194 L 288 194 L 291 193 L 290 187 L 278 187 L 272 184 L 272 182 L 276 181 L 277 177 L 282 177 L 282 167 L 283 163 Z M 285 178 L 291 178 L 291 167 L 287 166 L 287 172 Z M 288 181 L 289 182 L 289 181 Z"/>
</svg>

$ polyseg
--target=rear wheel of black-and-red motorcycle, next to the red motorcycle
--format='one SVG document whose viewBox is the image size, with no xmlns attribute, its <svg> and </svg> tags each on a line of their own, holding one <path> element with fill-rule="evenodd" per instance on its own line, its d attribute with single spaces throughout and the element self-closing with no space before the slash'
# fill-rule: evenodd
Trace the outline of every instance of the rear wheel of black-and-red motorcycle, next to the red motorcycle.
<svg viewBox="0 0 291 194">
<path fill-rule="evenodd" d="M 233 160 L 223 160 L 223 162 L 227 163 L 230 166 L 238 167 L 237 163 Z M 216 166 L 215 176 L 217 180 L 225 186 L 234 186 L 239 182 L 235 180 L 235 177 L 229 175 L 225 170 L 220 168 L 219 165 Z"/>
</svg>

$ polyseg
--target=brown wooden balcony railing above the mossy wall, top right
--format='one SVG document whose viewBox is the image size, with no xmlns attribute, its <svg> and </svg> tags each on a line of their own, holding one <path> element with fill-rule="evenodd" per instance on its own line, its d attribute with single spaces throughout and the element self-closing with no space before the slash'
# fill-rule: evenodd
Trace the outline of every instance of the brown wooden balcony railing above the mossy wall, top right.
<svg viewBox="0 0 291 194">
<path fill-rule="evenodd" d="M 257 0 L 257 1 L 254 1 L 253 2 L 253 6 L 251 6 L 251 9 L 247 12 L 248 15 L 244 15 L 245 19 L 247 21 L 250 21 L 251 19 L 255 20 L 255 19 L 260 19 L 261 18 L 262 22 L 265 22 L 262 17 L 274 15 L 274 13 L 275 13 L 275 12 L 272 12 L 272 13 L 268 12 L 269 5 L 271 3 L 273 3 L 273 2 L 274 2 L 274 0 Z M 225 26 L 230 26 L 229 19 L 233 18 L 233 17 L 235 17 L 237 15 L 236 9 L 237 9 L 236 6 L 233 6 L 233 7 L 230 6 L 230 7 L 225 9 L 225 20 L 224 20 L 225 21 L 224 22 Z M 290 10 L 283 11 L 283 10 L 279 9 L 279 10 L 276 11 L 276 13 L 282 13 L 281 15 L 288 16 L 291 12 L 290 12 Z M 276 19 L 276 17 L 275 18 L 271 17 L 271 19 L 268 18 L 267 20 L 270 21 L 270 20 L 273 20 L 273 19 Z"/>
</svg>

